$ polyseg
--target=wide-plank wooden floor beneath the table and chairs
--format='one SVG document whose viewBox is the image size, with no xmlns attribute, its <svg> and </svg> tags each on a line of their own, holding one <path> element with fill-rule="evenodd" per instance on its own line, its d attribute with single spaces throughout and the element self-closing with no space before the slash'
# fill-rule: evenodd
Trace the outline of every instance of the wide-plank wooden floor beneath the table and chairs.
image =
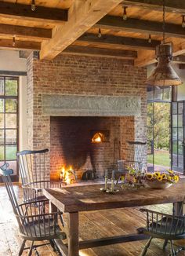
<svg viewBox="0 0 185 256">
<path fill-rule="evenodd" d="M 18 185 L 14 186 L 16 195 L 22 197 L 22 190 Z M 155 210 L 170 212 L 170 205 L 154 206 Z M 145 215 L 138 209 L 117 209 L 84 212 L 80 214 L 80 238 L 93 239 L 103 236 L 122 235 L 129 232 L 136 232 L 138 227 L 145 225 Z M 13 216 L 12 207 L 9 203 L 5 187 L 0 186 L 0 256 L 17 256 L 20 248 L 21 238 L 18 236 L 16 219 Z M 96 247 L 80 251 L 80 256 L 137 256 L 140 255 L 146 240 L 132 243 L 120 243 L 107 247 Z M 180 241 L 185 245 L 185 241 Z M 56 255 L 49 246 L 39 247 L 40 255 Z M 23 255 L 27 255 L 24 251 Z M 169 246 L 162 251 L 161 240 L 153 240 L 147 252 L 148 256 L 169 255 Z M 181 251 L 178 255 L 184 256 Z"/>
</svg>

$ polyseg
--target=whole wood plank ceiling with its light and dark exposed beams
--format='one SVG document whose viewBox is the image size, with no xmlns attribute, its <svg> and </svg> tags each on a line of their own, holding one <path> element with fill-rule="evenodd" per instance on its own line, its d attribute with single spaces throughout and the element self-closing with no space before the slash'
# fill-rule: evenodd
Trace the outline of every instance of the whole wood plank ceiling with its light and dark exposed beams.
<svg viewBox="0 0 185 256">
<path fill-rule="evenodd" d="M 0 49 L 39 50 L 41 59 L 49 60 L 71 53 L 130 58 L 138 66 L 155 61 L 154 49 L 162 39 L 162 0 L 34 2 L 32 11 L 31 0 L 0 1 Z M 165 0 L 165 6 L 166 42 L 173 42 L 174 60 L 184 63 L 185 1 Z"/>
</svg>

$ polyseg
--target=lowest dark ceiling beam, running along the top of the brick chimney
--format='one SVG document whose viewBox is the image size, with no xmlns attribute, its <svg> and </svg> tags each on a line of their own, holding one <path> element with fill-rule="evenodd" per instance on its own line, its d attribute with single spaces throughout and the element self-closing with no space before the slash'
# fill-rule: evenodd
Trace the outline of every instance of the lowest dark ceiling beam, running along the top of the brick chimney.
<svg viewBox="0 0 185 256">
<path fill-rule="evenodd" d="M 62 54 L 85 55 L 93 57 L 111 57 L 116 59 L 133 60 L 137 57 L 136 51 L 125 49 L 104 49 L 84 46 L 68 46 Z"/>
</svg>

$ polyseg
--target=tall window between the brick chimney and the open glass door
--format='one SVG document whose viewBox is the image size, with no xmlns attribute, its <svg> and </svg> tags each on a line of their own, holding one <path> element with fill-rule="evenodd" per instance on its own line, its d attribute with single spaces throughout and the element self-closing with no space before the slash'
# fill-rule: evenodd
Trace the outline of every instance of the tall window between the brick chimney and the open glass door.
<svg viewBox="0 0 185 256">
<path fill-rule="evenodd" d="M 147 88 L 147 169 L 150 171 L 171 167 L 171 97 L 170 87 Z"/>
</svg>

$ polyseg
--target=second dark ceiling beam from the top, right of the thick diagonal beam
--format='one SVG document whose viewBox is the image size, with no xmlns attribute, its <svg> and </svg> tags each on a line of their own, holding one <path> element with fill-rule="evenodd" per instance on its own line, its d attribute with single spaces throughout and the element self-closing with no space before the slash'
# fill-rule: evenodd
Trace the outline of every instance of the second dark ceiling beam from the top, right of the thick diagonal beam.
<svg viewBox="0 0 185 256">
<path fill-rule="evenodd" d="M 114 31 L 130 31 L 151 35 L 162 35 L 162 24 L 160 22 L 132 18 L 123 20 L 120 16 L 104 16 L 94 25 L 94 27 L 111 29 Z M 185 38 L 185 30 L 180 25 L 165 24 L 165 35 L 175 38 Z"/>
</svg>

